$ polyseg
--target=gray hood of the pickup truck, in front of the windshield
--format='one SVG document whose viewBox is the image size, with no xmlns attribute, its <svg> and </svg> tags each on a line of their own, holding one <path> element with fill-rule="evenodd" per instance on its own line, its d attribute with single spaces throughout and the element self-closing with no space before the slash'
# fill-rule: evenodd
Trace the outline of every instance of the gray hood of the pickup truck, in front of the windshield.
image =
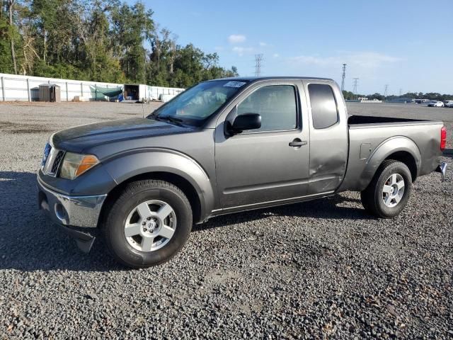
<svg viewBox="0 0 453 340">
<path fill-rule="evenodd" d="M 130 118 L 62 130 L 53 135 L 52 143 L 57 149 L 84 152 L 84 149 L 120 140 L 176 135 L 192 131 L 193 128 L 187 126 L 147 118 Z"/>
</svg>

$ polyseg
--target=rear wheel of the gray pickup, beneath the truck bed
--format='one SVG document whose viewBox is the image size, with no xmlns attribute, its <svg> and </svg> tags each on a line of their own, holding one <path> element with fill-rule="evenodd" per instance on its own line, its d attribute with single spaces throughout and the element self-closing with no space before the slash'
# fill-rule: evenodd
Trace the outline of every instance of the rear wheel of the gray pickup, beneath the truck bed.
<svg viewBox="0 0 453 340">
<path fill-rule="evenodd" d="M 360 193 L 360 198 L 365 210 L 372 215 L 391 218 L 406 207 L 411 189 L 412 176 L 406 164 L 389 159 L 379 166 L 371 183 Z"/>
</svg>

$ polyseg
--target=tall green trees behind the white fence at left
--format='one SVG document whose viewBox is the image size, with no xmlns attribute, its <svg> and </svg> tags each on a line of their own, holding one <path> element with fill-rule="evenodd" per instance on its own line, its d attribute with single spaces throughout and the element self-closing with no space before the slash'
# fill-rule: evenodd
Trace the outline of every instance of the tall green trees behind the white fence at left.
<svg viewBox="0 0 453 340">
<path fill-rule="evenodd" d="M 13 40 L 20 74 L 176 87 L 238 75 L 217 53 L 178 45 L 141 2 L 16 0 L 12 25 L 10 2 L 0 8 L 0 72 L 14 73 Z"/>
</svg>

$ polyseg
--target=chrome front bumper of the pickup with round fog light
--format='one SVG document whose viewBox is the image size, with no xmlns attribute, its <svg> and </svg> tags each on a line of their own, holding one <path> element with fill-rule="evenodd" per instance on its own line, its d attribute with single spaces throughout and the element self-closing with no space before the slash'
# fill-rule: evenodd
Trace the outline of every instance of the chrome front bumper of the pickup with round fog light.
<svg viewBox="0 0 453 340">
<path fill-rule="evenodd" d="M 67 196 L 47 188 L 38 177 L 38 207 L 52 222 L 61 225 L 76 239 L 82 251 L 88 252 L 95 237 L 101 208 L 107 195 Z"/>
</svg>

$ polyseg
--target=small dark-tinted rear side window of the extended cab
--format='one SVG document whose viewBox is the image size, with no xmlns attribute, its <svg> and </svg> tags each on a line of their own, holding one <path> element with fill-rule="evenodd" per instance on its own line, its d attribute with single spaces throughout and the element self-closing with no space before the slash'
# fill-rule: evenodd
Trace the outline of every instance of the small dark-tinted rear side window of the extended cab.
<svg viewBox="0 0 453 340">
<path fill-rule="evenodd" d="M 315 129 L 325 129 L 338 122 L 338 109 L 331 86 L 309 84 L 311 117 Z"/>
</svg>

